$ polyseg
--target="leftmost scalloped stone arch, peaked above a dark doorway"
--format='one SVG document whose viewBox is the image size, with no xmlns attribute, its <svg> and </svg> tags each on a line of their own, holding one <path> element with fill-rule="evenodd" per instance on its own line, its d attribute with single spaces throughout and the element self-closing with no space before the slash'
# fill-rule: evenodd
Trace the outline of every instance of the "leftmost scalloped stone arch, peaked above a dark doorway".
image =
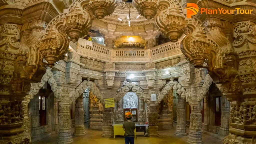
<svg viewBox="0 0 256 144">
<path fill-rule="evenodd" d="M 39 92 L 39 90 L 44 86 L 45 83 L 49 83 L 51 86 L 51 90 L 54 92 L 55 98 L 61 100 L 61 89 L 58 87 L 56 83 L 56 79 L 51 71 L 51 68 L 46 70 L 46 73 L 42 77 L 40 83 L 31 84 L 30 91 L 28 95 L 25 97 L 25 101 L 30 102 L 30 99 L 33 99 Z"/>
</svg>

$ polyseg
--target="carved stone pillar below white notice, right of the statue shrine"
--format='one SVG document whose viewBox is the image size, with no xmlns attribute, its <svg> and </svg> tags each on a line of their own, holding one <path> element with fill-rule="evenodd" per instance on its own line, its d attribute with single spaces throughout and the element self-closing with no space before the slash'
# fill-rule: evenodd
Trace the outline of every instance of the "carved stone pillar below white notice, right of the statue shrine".
<svg viewBox="0 0 256 144">
<path fill-rule="evenodd" d="M 155 101 L 151 101 L 148 106 L 148 136 L 149 137 L 158 137 L 158 111 L 157 104 Z"/>
</svg>

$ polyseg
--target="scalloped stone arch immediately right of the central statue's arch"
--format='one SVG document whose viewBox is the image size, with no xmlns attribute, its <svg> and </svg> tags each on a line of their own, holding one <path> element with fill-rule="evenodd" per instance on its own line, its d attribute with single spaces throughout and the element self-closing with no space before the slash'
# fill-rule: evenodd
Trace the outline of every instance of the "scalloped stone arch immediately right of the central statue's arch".
<svg viewBox="0 0 256 144">
<path fill-rule="evenodd" d="M 159 93 L 158 97 L 157 97 L 157 102 L 160 103 L 164 97 L 168 94 L 168 92 L 170 90 L 175 90 L 177 91 L 177 93 L 183 98 L 186 99 L 187 96 L 187 92 L 186 90 L 183 88 L 183 86 L 178 83 L 177 81 L 169 81 L 165 87 L 163 88 L 163 90 Z"/>
</svg>

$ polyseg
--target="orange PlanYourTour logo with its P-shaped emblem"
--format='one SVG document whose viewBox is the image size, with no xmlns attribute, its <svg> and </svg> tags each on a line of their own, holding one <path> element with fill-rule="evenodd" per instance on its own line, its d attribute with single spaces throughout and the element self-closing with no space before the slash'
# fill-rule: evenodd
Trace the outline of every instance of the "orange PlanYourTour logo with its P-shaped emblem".
<svg viewBox="0 0 256 144">
<path fill-rule="evenodd" d="M 197 4 L 194 3 L 187 3 L 187 18 L 191 18 L 193 15 L 196 15 L 199 12 L 199 7 Z M 201 8 L 201 14 L 252 14 L 253 9 L 208 9 L 208 8 Z"/>
</svg>

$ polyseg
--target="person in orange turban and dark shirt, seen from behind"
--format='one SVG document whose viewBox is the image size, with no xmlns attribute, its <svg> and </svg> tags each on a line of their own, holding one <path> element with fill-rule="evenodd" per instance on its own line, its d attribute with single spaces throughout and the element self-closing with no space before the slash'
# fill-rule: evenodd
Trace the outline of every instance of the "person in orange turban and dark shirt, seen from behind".
<svg viewBox="0 0 256 144">
<path fill-rule="evenodd" d="M 126 112 L 125 117 L 126 117 L 127 121 L 125 121 L 123 124 L 123 129 L 125 131 L 124 141 L 125 141 L 125 144 L 130 144 L 130 143 L 134 144 L 134 137 L 135 137 L 134 131 L 136 129 L 136 125 L 133 121 L 131 121 L 132 113 Z"/>
</svg>

